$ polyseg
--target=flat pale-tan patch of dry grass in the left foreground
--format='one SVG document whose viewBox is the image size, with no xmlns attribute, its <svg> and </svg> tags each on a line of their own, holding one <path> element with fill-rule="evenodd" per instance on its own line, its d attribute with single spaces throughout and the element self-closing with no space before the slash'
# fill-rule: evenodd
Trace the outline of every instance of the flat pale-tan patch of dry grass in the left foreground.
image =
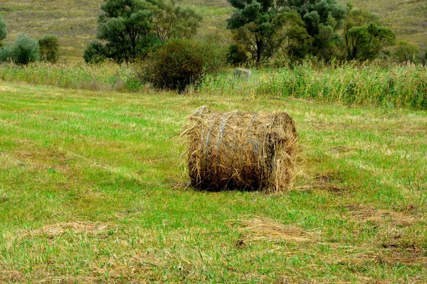
<svg viewBox="0 0 427 284">
<path fill-rule="evenodd" d="M 75 234 L 79 233 L 90 233 L 96 234 L 105 231 L 108 225 L 105 223 L 93 223 L 93 222 L 64 222 L 58 224 L 51 224 L 43 226 L 39 229 L 33 229 L 30 234 L 38 235 L 44 234 L 48 237 L 56 237 L 64 234 L 67 231 L 73 231 Z"/>
</svg>

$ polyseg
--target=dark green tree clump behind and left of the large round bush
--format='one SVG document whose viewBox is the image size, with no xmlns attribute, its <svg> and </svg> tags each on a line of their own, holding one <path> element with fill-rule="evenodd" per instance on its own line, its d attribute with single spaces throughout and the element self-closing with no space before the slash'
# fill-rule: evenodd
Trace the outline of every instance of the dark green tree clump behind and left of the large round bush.
<svg viewBox="0 0 427 284">
<path fill-rule="evenodd" d="M 98 17 L 97 38 L 104 40 L 105 56 L 116 62 L 144 59 L 162 41 L 189 38 L 201 16 L 163 0 L 105 0 Z"/>
</svg>

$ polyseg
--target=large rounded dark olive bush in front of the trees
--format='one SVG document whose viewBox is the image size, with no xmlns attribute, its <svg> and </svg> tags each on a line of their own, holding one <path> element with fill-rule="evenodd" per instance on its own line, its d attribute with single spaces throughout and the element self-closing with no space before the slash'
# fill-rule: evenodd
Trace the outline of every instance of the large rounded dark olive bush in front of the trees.
<svg viewBox="0 0 427 284">
<path fill-rule="evenodd" d="M 189 84 L 197 86 L 204 74 L 218 72 L 223 63 L 222 48 L 212 41 L 173 39 L 146 62 L 146 78 L 158 89 L 183 92 Z"/>
</svg>

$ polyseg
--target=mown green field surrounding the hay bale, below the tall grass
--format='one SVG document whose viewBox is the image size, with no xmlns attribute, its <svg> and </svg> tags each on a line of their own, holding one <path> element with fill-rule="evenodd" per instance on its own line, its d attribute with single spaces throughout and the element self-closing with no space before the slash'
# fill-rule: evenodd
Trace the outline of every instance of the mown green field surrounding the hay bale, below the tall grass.
<svg viewBox="0 0 427 284">
<path fill-rule="evenodd" d="M 186 187 L 186 116 L 283 110 L 282 195 Z M 426 111 L 0 81 L 0 283 L 426 283 Z M 313 282 L 311 282 L 313 281 Z"/>
</svg>

